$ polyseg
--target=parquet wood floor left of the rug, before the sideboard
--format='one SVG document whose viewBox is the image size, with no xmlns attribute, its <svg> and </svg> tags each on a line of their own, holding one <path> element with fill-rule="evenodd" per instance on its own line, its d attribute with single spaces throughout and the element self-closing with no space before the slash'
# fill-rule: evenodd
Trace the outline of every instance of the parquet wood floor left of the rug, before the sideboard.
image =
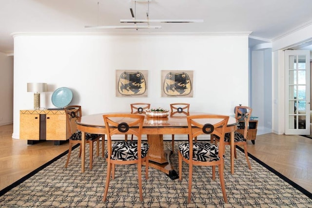
<svg viewBox="0 0 312 208">
<path fill-rule="evenodd" d="M 68 142 L 27 145 L 26 140 L 13 139 L 12 133 L 13 124 L 0 126 L 0 190 L 68 150 Z"/>
</svg>

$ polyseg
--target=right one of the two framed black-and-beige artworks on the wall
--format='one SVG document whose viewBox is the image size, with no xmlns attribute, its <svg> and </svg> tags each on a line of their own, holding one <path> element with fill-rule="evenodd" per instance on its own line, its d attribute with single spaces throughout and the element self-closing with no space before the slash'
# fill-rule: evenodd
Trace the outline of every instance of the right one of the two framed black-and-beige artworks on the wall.
<svg viewBox="0 0 312 208">
<path fill-rule="evenodd" d="M 193 71 L 161 71 L 161 96 L 193 97 Z"/>
</svg>

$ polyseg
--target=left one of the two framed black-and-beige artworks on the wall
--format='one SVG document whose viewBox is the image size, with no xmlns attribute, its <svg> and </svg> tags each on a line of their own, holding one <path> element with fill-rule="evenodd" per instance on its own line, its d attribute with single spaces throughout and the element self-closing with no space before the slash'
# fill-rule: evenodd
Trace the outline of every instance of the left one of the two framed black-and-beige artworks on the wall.
<svg viewBox="0 0 312 208">
<path fill-rule="evenodd" d="M 147 70 L 116 70 L 116 96 L 147 97 Z"/>
</svg>

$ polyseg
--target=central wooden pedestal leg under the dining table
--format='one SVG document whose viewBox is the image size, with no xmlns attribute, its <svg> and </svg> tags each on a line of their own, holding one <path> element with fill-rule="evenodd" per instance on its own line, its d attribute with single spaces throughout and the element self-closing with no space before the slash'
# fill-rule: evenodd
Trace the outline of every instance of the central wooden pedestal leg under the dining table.
<svg viewBox="0 0 312 208">
<path fill-rule="evenodd" d="M 178 178 L 176 170 L 171 166 L 167 160 L 169 152 L 164 150 L 163 135 L 147 135 L 147 142 L 150 146 L 149 152 L 149 166 L 160 170 L 167 174 L 172 180 Z M 167 157 L 168 156 L 168 157 Z"/>
</svg>

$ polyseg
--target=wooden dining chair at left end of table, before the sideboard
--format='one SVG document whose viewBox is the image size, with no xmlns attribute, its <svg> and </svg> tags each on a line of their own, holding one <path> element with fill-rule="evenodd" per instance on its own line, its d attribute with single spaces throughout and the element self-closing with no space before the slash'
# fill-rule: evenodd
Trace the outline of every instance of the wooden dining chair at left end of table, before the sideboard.
<svg viewBox="0 0 312 208">
<path fill-rule="evenodd" d="M 80 119 L 81 115 L 81 106 L 71 105 L 64 108 L 67 119 L 67 137 L 69 137 L 69 149 L 67 160 L 65 164 L 65 168 L 67 168 L 69 163 L 69 158 L 72 153 L 73 144 L 80 144 L 79 146 L 79 157 L 81 157 L 81 132 L 77 130 L 76 120 Z M 105 143 L 105 135 L 94 134 L 94 133 L 86 133 L 86 143 L 89 144 L 90 149 L 90 165 L 89 169 L 92 169 L 92 161 L 93 161 L 93 144 L 97 142 L 97 156 L 99 155 L 99 140 L 102 138 L 102 157 L 104 157 L 104 143 Z"/>
</svg>

